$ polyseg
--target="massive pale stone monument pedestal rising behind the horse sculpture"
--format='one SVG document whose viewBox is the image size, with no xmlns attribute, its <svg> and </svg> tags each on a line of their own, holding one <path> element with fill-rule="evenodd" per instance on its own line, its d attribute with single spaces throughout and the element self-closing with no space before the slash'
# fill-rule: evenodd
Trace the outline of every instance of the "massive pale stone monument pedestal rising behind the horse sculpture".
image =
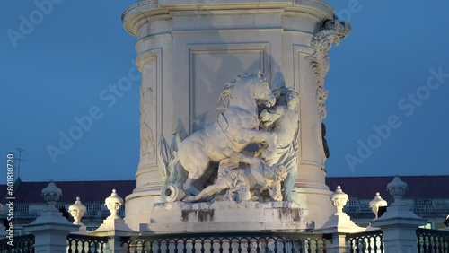
<svg viewBox="0 0 449 253">
<path fill-rule="evenodd" d="M 329 204 L 321 136 L 329 69 L 328 51 L 349 32 L 334 22 L 321 0 L 139 1 L 123 13 L 136 36 L 142 72 L 141 146 L 136 189 L 127 196 L 125 221 L 137 230 L 160 201 L 159 136 L 193 133 L 217 118 L 216 100 L 235 74 L 257 73 L 272 81 L 282 73 L 300 93 L 299 165 L 294 200 L 308 221 L 321 226 L 335 210 Z"/>
</svg>

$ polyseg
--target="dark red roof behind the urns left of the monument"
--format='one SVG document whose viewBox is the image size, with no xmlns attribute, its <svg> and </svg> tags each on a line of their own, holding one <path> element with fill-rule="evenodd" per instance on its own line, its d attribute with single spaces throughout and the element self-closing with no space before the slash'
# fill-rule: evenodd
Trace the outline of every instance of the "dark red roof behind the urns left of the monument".
<svg viewBox="0 0 449 253">
<path fill-rule="evenodd" d="M 135 180 L 116 181 L 55 181 L 57 188 L 62 190 L 59 203 L 75 203 L 76 196 L 82 203 L 103 202 L 110 196 L 112 189 L 125 199 L 136 188 Z M 42 189 L 48 186 L 48 182 L 22 182 L 14 194 L 15 203 L 43 203 Z M 4 185 L 0 188 L 5 188 Z M 4 193 L 5 194 L 5 193 Z M 4 196 L 4 194 L 2 196 Z"/>
</svg>

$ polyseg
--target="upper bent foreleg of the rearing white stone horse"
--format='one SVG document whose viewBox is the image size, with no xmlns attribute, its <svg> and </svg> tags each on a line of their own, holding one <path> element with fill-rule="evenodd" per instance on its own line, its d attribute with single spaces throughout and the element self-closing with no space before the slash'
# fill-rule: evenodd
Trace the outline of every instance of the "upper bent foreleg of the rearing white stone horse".
<svg viewBox="0 0 449 253">
<path fill-rule="evenodd" d="M 269 144 L 265 159 L 271 160 L 276 154 L 277 135 L 267 131 L 259 131 L 255 129 L 241 129 L 238 131 L 235 140 L 239 144 Z"/>
</svg>

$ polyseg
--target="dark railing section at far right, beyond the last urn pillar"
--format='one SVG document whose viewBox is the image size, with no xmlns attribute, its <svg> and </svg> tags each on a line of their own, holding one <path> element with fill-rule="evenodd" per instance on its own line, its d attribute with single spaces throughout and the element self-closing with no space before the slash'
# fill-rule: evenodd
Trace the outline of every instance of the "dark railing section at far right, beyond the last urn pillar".
<svg viewBox="0 0 449 253">
<path fill-rule="evenodd" d="M 418 252 L 449 252 L 449 231 L 418 229 Z"/>
</svg>

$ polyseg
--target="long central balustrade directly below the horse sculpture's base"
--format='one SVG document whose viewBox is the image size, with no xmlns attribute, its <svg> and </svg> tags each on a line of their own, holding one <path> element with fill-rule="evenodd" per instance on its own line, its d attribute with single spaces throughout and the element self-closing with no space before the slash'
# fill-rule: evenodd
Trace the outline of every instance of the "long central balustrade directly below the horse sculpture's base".
<svg viewBox="0 0 449 253">
<path fill-rule="evenodd" d="M 322 234 L 208 232 L 158 234 L 122 240 L 126 252 L 327 252 Z"/>
</svg>

